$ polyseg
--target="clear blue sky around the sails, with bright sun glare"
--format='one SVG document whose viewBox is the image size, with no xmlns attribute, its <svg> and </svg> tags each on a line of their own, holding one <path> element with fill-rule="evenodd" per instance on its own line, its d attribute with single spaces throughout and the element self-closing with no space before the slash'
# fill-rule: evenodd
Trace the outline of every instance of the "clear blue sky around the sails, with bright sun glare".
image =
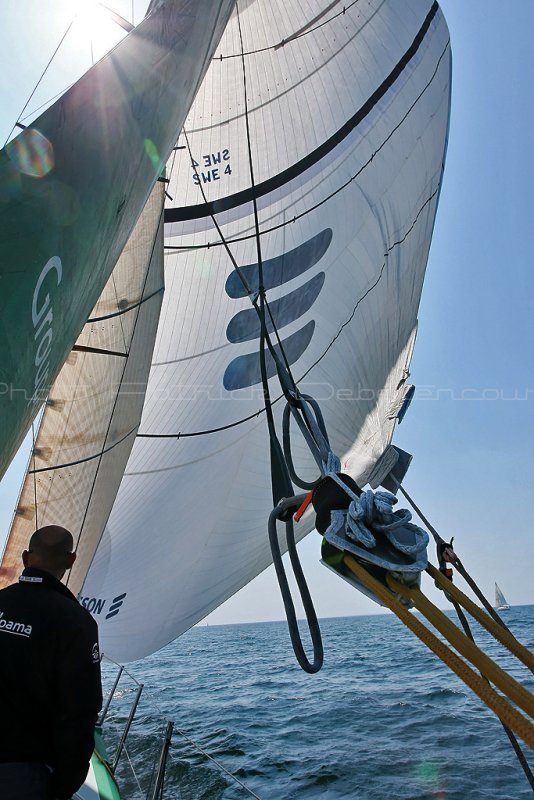
<svg viewBox="0 0 534 800">
<path fill-rule="evenodd" d="M 131 18 L 131 0 L 108 0 Z M 72 18 L 70 0 L 0 0 L 4 33 L 0 138 L 9 136 Z M 134 4 L 139 22 L 146 3 Z M 513 605 L 534 602 L 534 60 L 532 0 L 442 0 L 453 53 L 444 183 L 419 312 L 410 380 L 417 390 L 394 443 L 413 454 L 404 486 L 485 594 L 497 581 Z M 62 49 L 28 109 L 65 88 L 85 23 Z M 85 29 L 85 31 L 84 31 Z M 93 56 L 111 46 L 100 20 Z M 106 34 L 106 35 L 105 35 Z M 110 34 L 115 35 L 115 34 Z M 0 484 L 0 546 L 27 451 Z M 400 503 L 403 507 L 404 502 Z M 417 521 L 417 520 L 415 520 Z M 319 564 L 320 538 L 299 545 L 319 617 L 383 609 Z M 434 560 L 433 548 L 430 556 Z M 426 578 L 426 576 L 425 576 Z M 440 607 L 447 602 L 423 579 Z M 464 588 L 458 579 L 458 585 Z M 281 619 L 267 570 L 213 612 L 211 624 Z"/>
</svg>

